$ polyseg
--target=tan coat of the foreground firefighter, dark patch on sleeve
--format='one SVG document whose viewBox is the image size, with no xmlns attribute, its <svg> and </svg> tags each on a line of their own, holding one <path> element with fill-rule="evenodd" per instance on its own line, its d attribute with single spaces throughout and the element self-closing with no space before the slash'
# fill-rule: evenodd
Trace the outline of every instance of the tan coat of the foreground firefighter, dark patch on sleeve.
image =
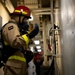
<svg viewBox="0 0 75 75">
<path fill-rule="evenodd" d="M 14 20 L 12 20 L 14 22 Z M 26 41 L 23 39 L 16 23 L 10 22 L 4 26 L 2 34 L 6 44 L 13 48 L 26 48 Z M 26 49 L 25 49 L 26 50 Z M 8 58 L 4 68 L 4 75 L 28 75 L 26 59 L 19 50 Z"/>
</svg>

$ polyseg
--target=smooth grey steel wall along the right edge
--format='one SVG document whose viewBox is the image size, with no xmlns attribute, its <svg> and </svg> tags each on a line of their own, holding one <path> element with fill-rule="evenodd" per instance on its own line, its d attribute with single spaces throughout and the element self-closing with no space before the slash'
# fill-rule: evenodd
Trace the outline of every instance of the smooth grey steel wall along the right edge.
<svg viewBox="0 0 75 75">
<path fill-rule="evenodd" d="M 75 0 L 61 0 L 60 3 L 64 75 L 75 75 Z"/>
</svg>

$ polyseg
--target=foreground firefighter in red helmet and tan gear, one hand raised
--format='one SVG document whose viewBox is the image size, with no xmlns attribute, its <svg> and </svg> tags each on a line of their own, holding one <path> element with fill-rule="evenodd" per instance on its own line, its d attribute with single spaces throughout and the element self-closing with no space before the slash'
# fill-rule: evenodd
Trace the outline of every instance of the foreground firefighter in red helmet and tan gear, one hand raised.
<svg viewBox="0 0 75 75">
<path fill-rule="evenodd" d="M 36 24 L 33 31 L 28 33 L 27 20 L 31 18 L 30 13 L 28 7 L 18 6 L 10 14 L 12 19 L 2 27 L 5 53 L 8 54 L 4 65 L 4 75 L 28 75 L 25 53 L 30 39 L 39 32 Z"/>
</svg>

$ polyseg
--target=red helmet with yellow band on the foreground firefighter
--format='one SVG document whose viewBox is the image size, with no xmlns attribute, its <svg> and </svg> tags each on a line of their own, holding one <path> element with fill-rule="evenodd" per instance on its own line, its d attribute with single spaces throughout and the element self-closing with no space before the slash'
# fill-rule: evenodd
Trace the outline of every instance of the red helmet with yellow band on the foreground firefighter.
<svg viewBox="0 0 75 75">
<path fill-rule="evenodd" d="M 31 14 L 31 11 L 26 6 L 18 6 L 15 8 L 14 12 L 11 13 L 11 15 L 23 15 L 23 16 L 27 16 L 28 18 L 31 18 L 30 14 Z"/>
</svg>

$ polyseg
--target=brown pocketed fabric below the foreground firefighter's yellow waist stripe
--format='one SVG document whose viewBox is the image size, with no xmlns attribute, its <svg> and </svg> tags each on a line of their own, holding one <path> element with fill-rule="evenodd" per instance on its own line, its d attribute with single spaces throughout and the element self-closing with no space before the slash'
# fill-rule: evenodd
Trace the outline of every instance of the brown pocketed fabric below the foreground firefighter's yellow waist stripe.
<svg viewBox="0 0 75 75">
<path fill-rule="evenodd" d="M 28 75 L 26 62 L 19 60 L 8 60 L 4 66 L 4 75 Z"/>
</svg>

